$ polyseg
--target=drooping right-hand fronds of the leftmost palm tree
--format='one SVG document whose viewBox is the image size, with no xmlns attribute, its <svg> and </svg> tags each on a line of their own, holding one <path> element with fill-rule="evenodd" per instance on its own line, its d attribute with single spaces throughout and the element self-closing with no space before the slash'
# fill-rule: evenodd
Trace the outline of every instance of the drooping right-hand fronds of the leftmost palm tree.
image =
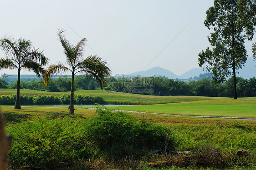
<svg viewBox="0 0 256 170">
<path fill-rule="evenodd" d="M 25 68 L 29 71 L 34 71 L 37 77 L 41 77 L 41 75 L 45 73 L 45 69 L 41 66 L 41 64 L 33 60 L 24 60 L 21 68 Z"/>
</svg>

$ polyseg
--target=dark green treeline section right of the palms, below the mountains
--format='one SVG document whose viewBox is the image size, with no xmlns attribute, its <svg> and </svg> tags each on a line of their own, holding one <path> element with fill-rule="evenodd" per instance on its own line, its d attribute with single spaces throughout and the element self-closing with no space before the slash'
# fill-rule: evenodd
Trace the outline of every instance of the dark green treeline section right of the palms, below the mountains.
<svg viewBox="0 0 256 170">
<path fill-rule="evenodd" d="M 236 77 L 237 96 L 256 96 L 256 78 L 249 80 Z M 196 95 L 212 97 L 234 97 L 233 77 L 224 84 L 215 84 L 210 78 L 198 81 L 178 81 L 163 77 L 133 77 L 108 79 L 108 86 L 105 90 L 115 90 L 143 95 Z"/>
</svg>

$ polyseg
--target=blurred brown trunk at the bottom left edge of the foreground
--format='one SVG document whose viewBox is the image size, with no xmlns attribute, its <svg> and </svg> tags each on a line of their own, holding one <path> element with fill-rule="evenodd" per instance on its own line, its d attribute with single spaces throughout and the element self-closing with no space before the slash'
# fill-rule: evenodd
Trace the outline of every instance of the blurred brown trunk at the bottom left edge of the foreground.
<svg viewBox="0 0 256 170">
<path fill-rule="evenodd" d="M 7 170 L 7 153 L 10 145 L 11 136 L 5 135 L 4 119 L 0 113 L 0 170 Z"/>
</svg>

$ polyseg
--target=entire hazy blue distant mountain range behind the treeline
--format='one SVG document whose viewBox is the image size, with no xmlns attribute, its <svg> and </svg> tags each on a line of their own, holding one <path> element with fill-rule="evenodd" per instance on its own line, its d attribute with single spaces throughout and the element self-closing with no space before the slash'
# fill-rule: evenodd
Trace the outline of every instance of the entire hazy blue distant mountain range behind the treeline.
<svg viewBox="0 0 256 170">
<path fill-rule="evenodd" d="M 198 67 L 185 72 L 183 75 L 178 76 L 175 75 L 173 72 L 163 69 L 161 67 L 153 67 L 149 70 L 138 71 L 127 76 L 165 76 L 169 79 L 189 79 L 190 77 L 194 78 L 195 76 L 199 76 L 200 74 L 204 73 L 206 73 L 206 71 L 203 71 L 202 68 Z M 245 66 L 242 67 L 242 69 L 237 70 L 236 76 L 240 76 L 245 79 L 256 77 L 256 61 L 253 61 L 252 58 L 248 58 Z"/>
</svg>

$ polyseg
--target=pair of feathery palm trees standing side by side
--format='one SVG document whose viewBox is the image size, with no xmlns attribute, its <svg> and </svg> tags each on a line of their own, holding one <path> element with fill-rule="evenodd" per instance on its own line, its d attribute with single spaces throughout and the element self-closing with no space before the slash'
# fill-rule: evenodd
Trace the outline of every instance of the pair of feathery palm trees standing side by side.
<svg viewBox="0 0 256 170">
<path fill-rule="evenodd" d="M 15 100 L 15 109 L 20 107 L 20 71 L 26 69 L 36 73 L 38 77 L 43 75 L 43 82 L 47 86 L 51 81 L 51 77 L 62 72 L 71 72 L 71 95 L 70 95 L 70 114 L 74 114 L 74 77 L 77 73 L 82 72 L 92 75 L 102 88 L 105 83 L 105 77 L 110 75 L 111 71 L 107 67 L 106 62 L 98 56 L 88 56 L 83 59 L 83 50 L 86 45 L 86 39 L 80 40 L 77 45 L 71 45 L 62 34 L 64 30 L 58 31 L 58 38 L 66 55 L 66 67 L 62 63 L 52 64 L 47 70 L 43 68 L 48 63 L 48 58 L 41 51 L 34 48 L 30 40 L 19 38 L 18 40 L 4 37 L 0 40 L 0 47 L 6 54 L 6 58 L 0 58 L 0 69 L 16 69 L 18 70 L 17 93 Z M 8 58 L 10 57 L 10 58 Z"/>
</svg>

